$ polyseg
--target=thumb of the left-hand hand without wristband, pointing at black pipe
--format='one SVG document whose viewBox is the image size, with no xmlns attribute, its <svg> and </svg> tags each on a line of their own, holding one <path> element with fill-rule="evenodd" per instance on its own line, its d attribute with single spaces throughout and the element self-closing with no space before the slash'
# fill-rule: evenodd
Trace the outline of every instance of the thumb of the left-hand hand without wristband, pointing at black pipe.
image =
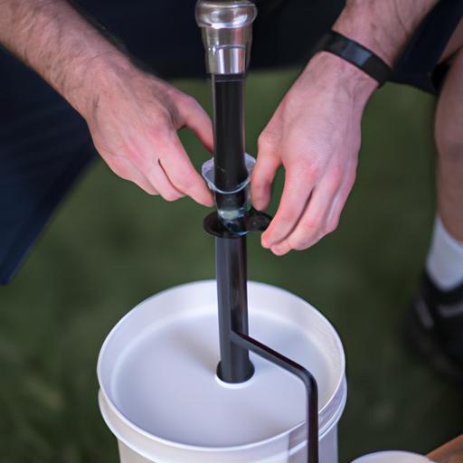
<svg viewBox="0 0 463 463">
<path fill-rule="evenodd" d="M 176 101 L 177 109 L 180 113 L 180 127 L 190 128 L 203 145 L 213 152 L 213 123 L 203 107 L 189 95 L 181 95 Z"/>
</svg>

